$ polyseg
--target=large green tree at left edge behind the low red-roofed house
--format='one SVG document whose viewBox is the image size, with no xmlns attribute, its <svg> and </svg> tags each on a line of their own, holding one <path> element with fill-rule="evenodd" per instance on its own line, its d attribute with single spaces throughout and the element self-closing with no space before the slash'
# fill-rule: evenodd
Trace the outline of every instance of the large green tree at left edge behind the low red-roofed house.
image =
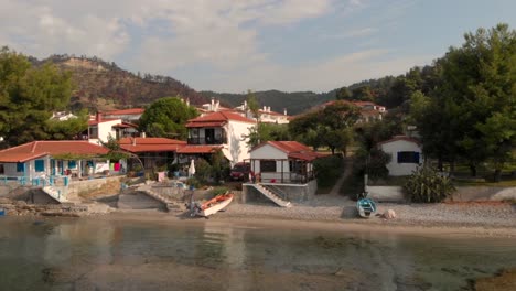
<svg viewBox="0 0 516 291">
<path fill-rule="evenodd" d="M 52 111 L 68 106 L 71 74 L 51 64 L 32 67 L 8 47 L 0 50 L 0 136 L 9 146 L 46 139 Z"/>
</svg>

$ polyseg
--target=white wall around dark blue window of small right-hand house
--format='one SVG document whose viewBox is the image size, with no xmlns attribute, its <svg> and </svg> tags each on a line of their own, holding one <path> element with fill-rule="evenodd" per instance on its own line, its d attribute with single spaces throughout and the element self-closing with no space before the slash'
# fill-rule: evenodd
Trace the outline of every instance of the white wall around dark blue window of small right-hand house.
<svg viewBox="0 0 516 291">
<path fill-rule="evenodd" d="M 390 154 L 390 162 L 387 164 L 387 169 L 389 170 L 389 175 L 393 176 L 410 175 L 419 166 L 416 163 L 398 163 L 398 152 L 419 152 L 419 162 L 422 163 L 421 148 L 415 142 L 396 140 L 383 143 L 381 150 Z"/>
</svg>

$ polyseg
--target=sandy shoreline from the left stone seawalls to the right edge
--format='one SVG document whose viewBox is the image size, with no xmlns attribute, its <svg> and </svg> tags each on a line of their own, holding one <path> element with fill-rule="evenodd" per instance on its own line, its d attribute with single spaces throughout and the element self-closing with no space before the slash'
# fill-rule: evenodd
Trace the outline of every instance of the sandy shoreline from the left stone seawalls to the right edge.
<svg viewBox="0 0 516 291">
<path fill-rule="evenodd" d="M 107 219 L 206 224 L 232 227 L 375 231 L 402 235 L 516 237 L 516 206 L 509 203 L 393 204 L 379 203 L 378 213 L 394 209 L 395 219 L 357 218 L 355 203 L 342 196 L 316 196 L 293 207 L 272 204 L 230 204 L 209 219 L 157 211 L 115 211 Z M 108 218 L 109 217 L 109 218 Z"/>
</svg>

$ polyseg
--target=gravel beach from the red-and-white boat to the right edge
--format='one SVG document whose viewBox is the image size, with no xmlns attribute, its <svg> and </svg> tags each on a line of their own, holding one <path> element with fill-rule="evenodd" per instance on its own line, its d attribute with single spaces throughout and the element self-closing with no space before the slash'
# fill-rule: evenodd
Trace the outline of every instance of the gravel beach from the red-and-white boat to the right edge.
<svg viewBox="0 0 516 291">
<path fill-rule="evenodd" d="M 275 204 L 237 204 L 217 214 L 221 218 L 278 218 L 316 222 L 351 222 L 361 224 L 391 224 L 427 227 L 516 227 L 516 205 L 509 203 L 440 203 L 440 204 L 394 204 L 377 203 L 378 214 L 387 209 L 396 213 L 395 219 L 379 216 L 358 218 L 355 202 L 337 195 L 319 195 L 314 200 L 294 204 L 290 208 Z"/>
</svg>

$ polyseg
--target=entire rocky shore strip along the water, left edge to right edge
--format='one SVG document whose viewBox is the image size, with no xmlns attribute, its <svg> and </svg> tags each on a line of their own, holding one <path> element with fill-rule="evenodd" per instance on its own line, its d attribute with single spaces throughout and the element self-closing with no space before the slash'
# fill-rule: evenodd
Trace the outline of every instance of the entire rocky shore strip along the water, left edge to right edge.
<svg viewBox="0 0 516 291">
<path fill-rule="evenodd" d="M 112 205 L 111 205 L 112 206 Z M 221 222 L 259 222 L 264 219 L 276 222 L 310 222 L 354 224 L 361 226 L 380 226 L 391 228 L 453 228 L 462 233 L 481 236 L 516 237 L 516 205 L 503 202 L 470 202 L 440 204 L 396 204 L 378 203 L 377 215 L 368 219 L 357 217 L 355 202 L 340 195 L 318 195 L 304 203 L 295 203 L 292 207 L 278 207 L 271 203 L 240 204 L 232 203 L 224 212 L 211 217 Z M 0 208 L 9 216 L 68 216 L 82 217 L 108 213 L 123 213 L 136 219 L 155 214 L 170 219 L 182 219 L 187 215 L 183 212 L 127 211 L 110 207 L 101 203 L 84 203 L 75 205 L 50 204 L 32 205 L 23 201 L 0 198 Z M 386 219 L 381 214 L 394 211 L 396 218 Z M 144 215 L 142 215 L 144 213 Z"/>
</svg>

